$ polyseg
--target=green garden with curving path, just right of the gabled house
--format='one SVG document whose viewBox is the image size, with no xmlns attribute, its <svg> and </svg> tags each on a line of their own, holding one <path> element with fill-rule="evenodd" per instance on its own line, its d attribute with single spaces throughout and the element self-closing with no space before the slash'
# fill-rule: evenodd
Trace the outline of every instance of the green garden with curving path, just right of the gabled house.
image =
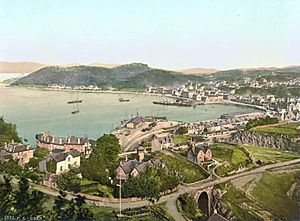
<svg viewBox="0 0 300 221">
<path fill-rule="evenodd" d="M 240 166 L 247 167 L 252 164 L 246 151 L 238 145 L 220 143 L 212 145 L 211 148 L 213 158 L 224 163 L 216 169 L 216 174 L 219 176 L 225 176 L 237 170 Z"/>
</svg>

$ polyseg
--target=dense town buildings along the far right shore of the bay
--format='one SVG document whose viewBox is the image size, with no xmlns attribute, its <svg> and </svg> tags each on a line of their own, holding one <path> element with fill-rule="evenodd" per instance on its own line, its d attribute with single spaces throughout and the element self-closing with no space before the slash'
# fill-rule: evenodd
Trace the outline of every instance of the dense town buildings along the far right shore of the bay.
<svg viewBox="0 0 300 221">
<path fill-rule="evenodd" d="M 287 82 L 258 82 L 245 79 L 244 87 L 278 87 L 278 86 L 300 86 L 300 80 L 294 79 Z M 229 88 L 224 91 L 222 88 Z M 270 115 L 279 117 L 281 120 L 300 120 L 300 97 L 276 96 L 274 94 L 260 95 L 256 93 L 236 94 L 240 85 L 232 82 L 210 82 L 208 85 L 197 82 L 187 82 L 178 87 L 147 87 L 146 91 L 154 94 L 163 94 L 176 99 L 176 102 L 193 104 L 232 104 L 249 106 L 260 110 L 266 110 Z M 163 102 L 161 102 L 163 104 Z"/>
</svg>

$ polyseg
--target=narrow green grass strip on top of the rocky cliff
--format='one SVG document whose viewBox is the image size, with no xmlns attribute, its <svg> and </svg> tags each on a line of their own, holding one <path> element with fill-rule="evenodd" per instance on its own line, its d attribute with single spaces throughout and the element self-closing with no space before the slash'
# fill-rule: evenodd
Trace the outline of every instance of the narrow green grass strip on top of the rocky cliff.
<svg viewBox="0 0 300 221">
<path fill-rule="evenodd" d="M 300 136 L 300 130 L 297 129 L 299 126 L 300 123 L 290 123 L 290 124 L 284 124 L 275 127 L 252 128 L 251 131 L 267 133 L 267 134 L 284 134 L 290 137 L 297 137 Z"/>
</svg>

